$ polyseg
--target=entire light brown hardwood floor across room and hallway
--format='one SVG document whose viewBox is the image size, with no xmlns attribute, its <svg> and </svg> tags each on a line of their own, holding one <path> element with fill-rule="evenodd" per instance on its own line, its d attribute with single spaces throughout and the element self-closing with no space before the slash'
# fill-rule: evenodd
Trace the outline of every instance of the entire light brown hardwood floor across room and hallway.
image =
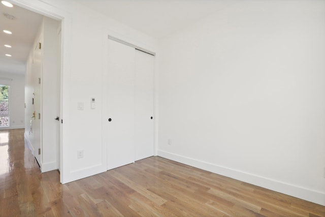
<svg viewBox="0 0 325 217">
<path fill-rule="evenodd" d="M 0 216 L 325 216 L 325 206 L 151 157 L 59 183 L 24 130 L 0 131 Z"/>
</svg>

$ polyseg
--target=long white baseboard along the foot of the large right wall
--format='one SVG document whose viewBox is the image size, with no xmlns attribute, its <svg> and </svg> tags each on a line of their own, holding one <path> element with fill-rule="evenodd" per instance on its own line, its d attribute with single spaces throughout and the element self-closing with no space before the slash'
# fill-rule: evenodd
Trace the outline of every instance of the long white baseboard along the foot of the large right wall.
<svg viewBox="0 0 325 217">
<path fill-rule="evenodd" d="M 163 150 L 158 150 L 158 156 L 325 206 L 325 192 L 314 191 L 294 184 L 187 158 Z"/>
</svg>

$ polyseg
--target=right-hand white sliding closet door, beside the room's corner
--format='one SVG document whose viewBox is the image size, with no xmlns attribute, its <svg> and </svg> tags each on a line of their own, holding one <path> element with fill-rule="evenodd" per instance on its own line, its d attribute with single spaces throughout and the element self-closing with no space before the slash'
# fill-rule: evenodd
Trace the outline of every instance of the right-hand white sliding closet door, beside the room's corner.
<svg viewBox="0 0 325 217">
<path fill-rule="evenodd" d="M 136 161 L 153 156 L 154 56 L 136 50 L 135 57 Z"/>
</svg>

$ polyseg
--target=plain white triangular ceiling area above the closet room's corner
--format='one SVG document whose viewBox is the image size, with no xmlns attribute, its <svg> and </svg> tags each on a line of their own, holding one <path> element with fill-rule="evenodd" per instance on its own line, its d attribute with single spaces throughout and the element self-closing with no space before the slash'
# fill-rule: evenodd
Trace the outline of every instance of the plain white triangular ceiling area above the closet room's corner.
<svg viewBox="0 0 325 217">
<path fill-rule="evenodd" d="M 77 0 L 155 39 L 222 10 L 235 0 Z"/>
</svg>

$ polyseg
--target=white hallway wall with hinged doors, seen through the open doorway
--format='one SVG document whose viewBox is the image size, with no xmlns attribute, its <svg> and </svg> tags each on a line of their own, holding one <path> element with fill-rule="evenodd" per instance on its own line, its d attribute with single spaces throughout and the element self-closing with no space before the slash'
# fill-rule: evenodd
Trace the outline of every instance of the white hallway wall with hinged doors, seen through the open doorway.
<svg viewBox="0 0 325 217">
<path fill-rule="evenodd" d="M 26 62 L 26 94 L 25 94 L 25 138 L 30 146 L 32 153 L 35 153 L 37 143 L 41 144 L 41 158 L 38 159 L 41 171 L 47 172 L 58 168 L 57 165 L 57 134 L 56 129 L 59 124 L 54 120 L 60 115 L 59 105 L 57 105 L 57 96 L 59 96 L 59 67 L 57 63 L 58 56 L 58 26 L 59 22 L 48 17 L 44 17 L 39 27 L 37 37 L 35 38 L 32 49 Z M 38 43 L 41 42 L 42 49 L 40 59 L 35 57 L 35 47 L 38 49 Z M 33 60 L 34 59 L 34 60 Z M 39 67 L 33 64 L 39 61 Z M 41 78 L 41 84 L 38 78 Z M 40 86 L 39 86 L 40 85 Z M 41 94 L 36 91 L 42 89 Z M 34 95 L 35 93 L 35 95 Z M 35 104 L 32 104 L 34 98 Z M 39 101 L 39 103 L 37 103 Z M 41 119 L 31 118 L 31 114 L 36 111 L 41 114 Z M 30 120 L 33 121 L 32 129 Z M 42 129 L 41 127 L 42 126 Z"/>
</svg>

